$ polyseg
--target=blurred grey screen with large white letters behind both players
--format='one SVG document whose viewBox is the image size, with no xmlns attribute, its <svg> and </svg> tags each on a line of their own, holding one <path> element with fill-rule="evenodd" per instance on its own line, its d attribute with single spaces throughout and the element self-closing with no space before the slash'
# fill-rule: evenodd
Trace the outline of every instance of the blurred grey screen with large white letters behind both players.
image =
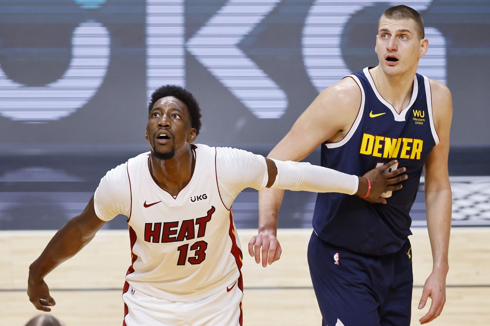
<svg viewBox="0 0 490 326">
<path fill-rule="evenodd" d="M 400 3 L 425 22 L 418 72 L 453 94 L 453 224 L 490 225 L 488 0 L 1 0 L 0 230 L 80 213 L 108 170 L 149 150 L 147 101 L 164 84 L 199 101 L 197 143 L 266 155 L 322 89 L 377 65 L 377 20 Z M 423 178 L 418 195 L 423 226 Z M 316 195 L 286 196 L 279 226 L 310 228 Z M 238 196 L 239 228 L 257 226 L 257 199 Z"/>
</svg>

